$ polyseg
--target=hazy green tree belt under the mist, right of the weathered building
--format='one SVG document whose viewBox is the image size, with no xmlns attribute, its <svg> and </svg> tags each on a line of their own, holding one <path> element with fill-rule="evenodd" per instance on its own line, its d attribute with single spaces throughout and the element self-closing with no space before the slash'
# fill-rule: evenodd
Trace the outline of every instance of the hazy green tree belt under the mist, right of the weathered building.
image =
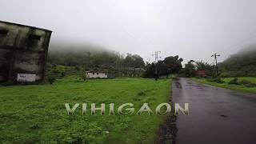
<svg viewBox="0 0 256 144">
<path fill-rule="evenodd" d="M 121 54 L 110 51 L 90 52 L 88 50 L 50 50 L 48 62 L 62 66 L 78 66 L 93 69 L 97 66 L 126 69 L 127 67 L 143 68 L 145 63 L 138 54 Z"/>
</svg>

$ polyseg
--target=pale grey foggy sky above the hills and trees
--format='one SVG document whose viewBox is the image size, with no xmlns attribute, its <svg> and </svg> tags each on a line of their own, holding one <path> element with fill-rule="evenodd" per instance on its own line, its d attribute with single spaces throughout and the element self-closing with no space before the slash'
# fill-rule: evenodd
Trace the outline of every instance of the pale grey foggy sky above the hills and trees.
<svg viewBox="0 0 256 144">
<path fill-rule="evenodd" d="M 0 0 L 0 20 L 53 30 L 51 43 L 94 43 L 152 62 L 213 62 L 256 43 L 255 0 Z"/>
</svg>

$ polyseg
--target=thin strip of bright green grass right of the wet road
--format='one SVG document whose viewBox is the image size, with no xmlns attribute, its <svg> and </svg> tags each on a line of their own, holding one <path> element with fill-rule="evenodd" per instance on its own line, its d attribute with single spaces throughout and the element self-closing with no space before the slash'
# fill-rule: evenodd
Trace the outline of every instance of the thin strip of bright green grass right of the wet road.
<svg viewBox="0 0 256 144">
<path fill-rule="evenodd" d="M 231 89 L 231 90 L 238 90 L 242 92 L 249 92 L 249 93 L 256 93 L 256 88 L 255 87 L 247 87 L 243 85 L 230 85 L 227 82 L 230 82 L 232 78 L 223 78 L 223 81 L 225 83 L 217 83 L 217 82 L 208 82 L 205 78 L 191 78 L 195 82 L 201 82 L 204 84 L 212 85 L 212 86 L 218 86 L 218 87 L 223 87 L 226 89 Z M 238 78 L 242 79 L 242 78 Z M 254 78 L 247 78 L 250 80 L 255 80 Z"/>
</svg>

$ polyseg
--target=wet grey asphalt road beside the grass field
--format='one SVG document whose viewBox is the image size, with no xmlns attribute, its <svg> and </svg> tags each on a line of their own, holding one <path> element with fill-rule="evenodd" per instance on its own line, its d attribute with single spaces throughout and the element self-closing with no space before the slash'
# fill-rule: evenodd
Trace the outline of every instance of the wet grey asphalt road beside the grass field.
<svg viewBox="0 0 256 144">
<path fill-rule="evenodd" d="M 190 115 L 177 118 L 176 144 L 256 144 L 256 94 L 179 78 L 173 101 L 190 103 Z"/>
</svg>

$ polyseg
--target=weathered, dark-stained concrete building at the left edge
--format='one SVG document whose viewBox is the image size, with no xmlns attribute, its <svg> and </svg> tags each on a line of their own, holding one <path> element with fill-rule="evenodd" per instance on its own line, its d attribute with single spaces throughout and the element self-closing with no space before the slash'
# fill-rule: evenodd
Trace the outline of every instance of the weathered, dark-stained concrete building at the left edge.
<svg viewBox="0 0 256 144">
<path fill-rule="evenodd" d="M 0 82 L 42 82 L 51 33 L 0 21 Z"/>
</svg>

